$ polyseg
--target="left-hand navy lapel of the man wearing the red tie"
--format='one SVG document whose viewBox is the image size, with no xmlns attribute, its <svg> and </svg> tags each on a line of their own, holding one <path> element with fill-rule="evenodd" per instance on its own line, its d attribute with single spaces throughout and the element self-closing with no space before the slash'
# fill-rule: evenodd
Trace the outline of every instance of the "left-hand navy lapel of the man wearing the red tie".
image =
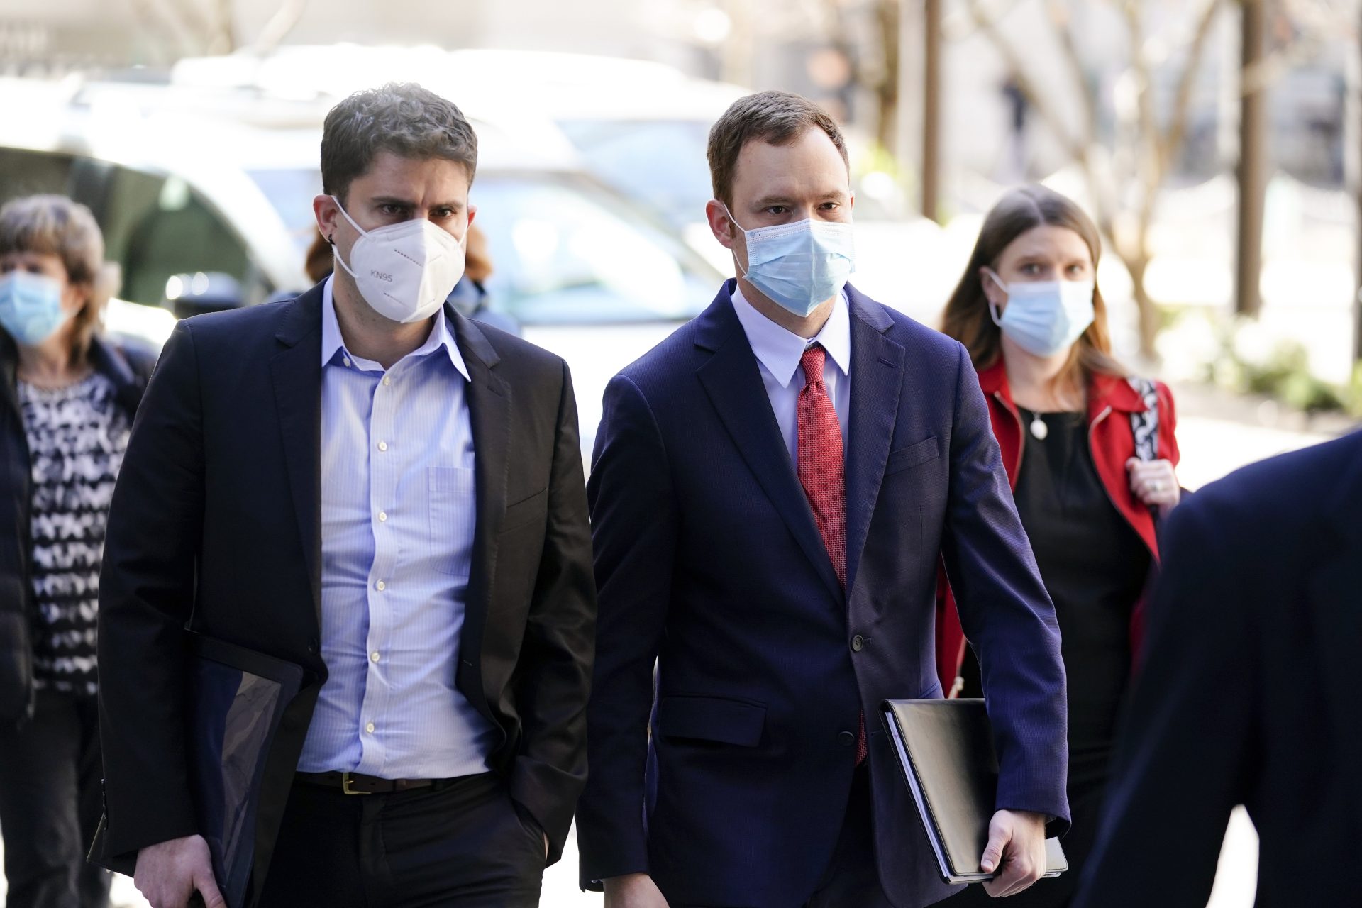
<svg viewBox="0 0 1362 908">
<path fill-rule="evenodd" d="M 720 293 L 720 298 L 700 319 L 706 324 L 700 327 L 696 343 L 714 351 L 696 372 L 700 384 L 799 549 L 813 562 L 828 592 L 840 600 L 844 595 L 842 584 L 813 523 L 813 512 L 761 384 L 757 358 L 727 293 Z"/>
</svg>

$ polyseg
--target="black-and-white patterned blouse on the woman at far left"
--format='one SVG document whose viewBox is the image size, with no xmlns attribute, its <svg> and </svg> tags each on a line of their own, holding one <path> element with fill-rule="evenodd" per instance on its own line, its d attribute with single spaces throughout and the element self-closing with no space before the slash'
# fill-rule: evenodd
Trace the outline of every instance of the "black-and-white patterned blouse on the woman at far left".
<svg viewBox="0 0 1362 908">
<path fill-rule="evenodd" d="M 34 686 L 95 693 L 99 564 L 131 425 L 99 373 L 65 388 L 19 381 L 33 464 Z"/>
</svg>

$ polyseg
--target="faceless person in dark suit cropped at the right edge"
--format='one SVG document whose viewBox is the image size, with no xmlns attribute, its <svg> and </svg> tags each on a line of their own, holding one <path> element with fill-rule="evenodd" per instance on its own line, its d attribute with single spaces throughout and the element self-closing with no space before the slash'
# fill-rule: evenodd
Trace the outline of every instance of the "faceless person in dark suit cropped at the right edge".
<svg viewBox="0 0 1362 908">
<path fill-rule="evenodd" d="M 1359 515 L 1362 433 L 1246 467 L 1169 519 L 1077 905 L 1205 905 L 1241 803 L 1260 905 L 1358 904 Z"/>
</svg>

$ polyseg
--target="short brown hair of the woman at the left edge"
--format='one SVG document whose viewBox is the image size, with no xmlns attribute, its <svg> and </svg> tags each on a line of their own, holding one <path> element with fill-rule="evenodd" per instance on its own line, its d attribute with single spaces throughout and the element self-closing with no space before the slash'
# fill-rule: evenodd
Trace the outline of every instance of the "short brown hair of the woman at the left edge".
<svg viewBox="0 0 1362 908">
<path fill-rule="evenodd" d="M 15 199 L 0 208 L 0 256 L 11 252 L 57 256 L 67 280 L 89 293 L 71 317 L 72 353 L 83 362 L 104 308 L 118 289 L 118 265 L 104 260 L 104 234 L 94 215 L 65 196 Z"/>
</svg>

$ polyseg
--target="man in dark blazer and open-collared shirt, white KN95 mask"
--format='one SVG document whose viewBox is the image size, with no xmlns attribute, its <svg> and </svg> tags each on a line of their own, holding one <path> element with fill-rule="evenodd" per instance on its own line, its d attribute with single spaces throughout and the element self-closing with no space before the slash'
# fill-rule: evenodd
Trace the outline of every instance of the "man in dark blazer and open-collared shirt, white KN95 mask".
<svg viewBox="0 0 1362 908">
<path fill-rule="evenodd" d="M 260 794 L 263 905 L 533 905 L 586 777 L 595 594 L 561 359 L 444 304 L 477 139 L 418 86 L 327 117 L 335 274 L 183 321 L 101 584 L 106 854 L 221 904 L 183 629 L 301 664 Z M 236 907 L 233 907 L 236 908 Z"/>
</svg>

